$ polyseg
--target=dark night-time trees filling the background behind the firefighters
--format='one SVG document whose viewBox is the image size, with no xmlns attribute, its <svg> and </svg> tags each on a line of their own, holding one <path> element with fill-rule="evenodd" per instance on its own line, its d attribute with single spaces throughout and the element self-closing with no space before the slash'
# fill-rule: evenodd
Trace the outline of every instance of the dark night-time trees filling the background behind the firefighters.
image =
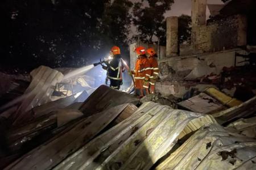
<svg viewBox="0 0 256 170">
<path fill-rule="evenodd" d="M 173 0 L 3 0 L 1 67 L 80 67 L 112 45 L 129 56 L 131 22 L 144 42 L 166 44 L 164 13 Z M 145 6 L 146 4 L 146 6 Z M 133 10 L 131 10 L 133 9 Z M 133 12 L 133 15 L 132 15 Z M 189 19 L 180 18 L 180 41 L 189 41 Z M 91 61 L 90 61 L 91 60 Z"/>
</svg>

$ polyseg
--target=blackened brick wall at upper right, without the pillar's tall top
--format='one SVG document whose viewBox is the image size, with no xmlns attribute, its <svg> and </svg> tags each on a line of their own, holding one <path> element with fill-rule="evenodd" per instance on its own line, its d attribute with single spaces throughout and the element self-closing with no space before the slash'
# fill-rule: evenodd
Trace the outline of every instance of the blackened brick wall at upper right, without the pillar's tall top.
<svg viewBox="0 0 256 170">
<path fill-rule="evenodd" d="M 193 28 L 196 52 L 215 52 L 244 46 L 247 43 L 246 16 L 234 15 Z"/>
</svg>

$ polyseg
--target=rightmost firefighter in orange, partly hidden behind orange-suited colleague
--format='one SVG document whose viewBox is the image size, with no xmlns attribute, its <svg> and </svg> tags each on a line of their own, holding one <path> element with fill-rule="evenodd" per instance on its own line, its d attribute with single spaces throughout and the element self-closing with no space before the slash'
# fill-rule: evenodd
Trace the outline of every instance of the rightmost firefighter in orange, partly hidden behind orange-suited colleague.
<svg viewBox="0 0 256 170">
<path fill-rule="evenodd" d="M 155 82 L 156 79 L 158 78 L 159 74 L 159 68 L 158 68 L 158 55 L 156 54 L 155 50 L 153 48 L 147 49 L 147 54 L 148 54 L 148 61 L 150 62 L 150 67 L 151 67 L 151 74 L 150 74 L 150 93 L 154 94 L 155 93 Z"/>
</svg>

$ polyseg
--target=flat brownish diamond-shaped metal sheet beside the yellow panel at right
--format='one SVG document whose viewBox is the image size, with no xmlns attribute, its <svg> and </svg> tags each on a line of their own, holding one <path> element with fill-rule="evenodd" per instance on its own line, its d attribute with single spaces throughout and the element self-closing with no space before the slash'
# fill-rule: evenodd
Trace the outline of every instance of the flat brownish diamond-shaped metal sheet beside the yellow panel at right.
<svg viewBox="0 0 256 170">
<path fill-rule="evenodd" d="M 181 101 L 178 105 L 192 112 L 212 114 L 226 109 L 219 101 L 202 92 L 188 100 Z"/>
</svg>

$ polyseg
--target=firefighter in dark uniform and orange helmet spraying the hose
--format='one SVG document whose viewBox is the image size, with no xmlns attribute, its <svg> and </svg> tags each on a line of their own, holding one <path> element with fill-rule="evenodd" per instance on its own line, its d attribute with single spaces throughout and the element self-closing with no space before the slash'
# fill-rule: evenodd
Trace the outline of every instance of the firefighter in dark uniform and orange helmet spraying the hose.
<svg viewBox="0 0 256 170">
<path fill-rule="evenodd" d="M 110 55 L 113 57 L 110 61 L 106 61 L 106 66 L 102 65 L 102 68 L 107 71 L 107 78 L 110 80 L 110 87 L 115 90 L 119 90 L 122 86 L 122 73 L 125 71 L 125 67 L 121 62 L 121 50 L 118 46 L 113 46 L 110 50 Z"/>
</svg>

